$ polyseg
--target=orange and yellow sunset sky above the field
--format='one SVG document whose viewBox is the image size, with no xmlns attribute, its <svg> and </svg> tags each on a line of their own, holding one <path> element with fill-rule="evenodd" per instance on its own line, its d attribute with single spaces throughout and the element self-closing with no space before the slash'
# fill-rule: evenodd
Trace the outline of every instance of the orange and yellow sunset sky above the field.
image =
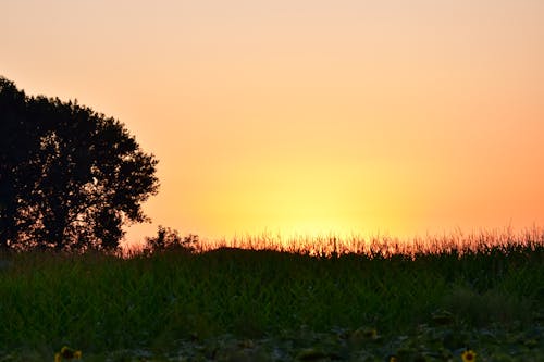
<svg viewBox="0 0 544 362">
<path fill-rule="evenodd" d="M 2 0 L 0 75 L 123 122 L 182 235 L 544 225 L 542 0 Z"/>
</svg>

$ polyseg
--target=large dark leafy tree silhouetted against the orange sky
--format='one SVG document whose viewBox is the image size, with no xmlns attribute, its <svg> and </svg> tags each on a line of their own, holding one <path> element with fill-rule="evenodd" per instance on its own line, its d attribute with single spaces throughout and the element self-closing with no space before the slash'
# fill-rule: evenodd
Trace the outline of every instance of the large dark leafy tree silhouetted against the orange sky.
<svg viewBox="0 0 544 362">
<path fill-rule="evenodd" d="M 15 146 L 0 149 L 9 160 L 0 168 L 0 220 L 9 225 L 0 246 L 115 249 L 124 225 L 147 220 L 141 203 L 158 191 L 158 161 L 119 121 L 0 80 L 2 127 L 16 129 L 5 136 Z"/>
</svg>

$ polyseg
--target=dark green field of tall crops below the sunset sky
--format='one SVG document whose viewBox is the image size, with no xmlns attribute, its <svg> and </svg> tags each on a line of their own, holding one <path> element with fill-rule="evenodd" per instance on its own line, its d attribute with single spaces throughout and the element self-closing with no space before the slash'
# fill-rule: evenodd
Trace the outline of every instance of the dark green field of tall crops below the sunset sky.
<svg viewBox="0 0 544 362">
<path fill-rule="evenodd" d="M 325 241 L 0 254 L 0 361 L 544 361 L 542 234 Z"/>
</svg>

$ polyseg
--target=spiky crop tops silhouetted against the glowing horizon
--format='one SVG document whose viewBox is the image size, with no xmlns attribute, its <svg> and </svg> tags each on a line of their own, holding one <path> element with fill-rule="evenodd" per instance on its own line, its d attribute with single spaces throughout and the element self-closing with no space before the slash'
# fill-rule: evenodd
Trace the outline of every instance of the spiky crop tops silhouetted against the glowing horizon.
<svg viewBox="0 0 544 362">
<path fill-rule="evenodd" d="M 311 257 L 338 257 L 360 254 L 390 258 L 392 255 L 416 257 L 420 254 L 463 254 L 487 252 L 497 249 L 531 248 L 544 244 L 544 229 L 533 227 L 515 233 L 504 230 L 482 230 L 465 234 L 426 235 L 425 237 L 397 238 L 387 235 L 361 237 L 359 235 L 338 237 L 335 235 L 284 237 L 281 234 L 262 233 L 231 239 L 203 240 L 196 245 L 200 252 L 236 248 L 248 250 L 273 250 Z"/>
</svg>

